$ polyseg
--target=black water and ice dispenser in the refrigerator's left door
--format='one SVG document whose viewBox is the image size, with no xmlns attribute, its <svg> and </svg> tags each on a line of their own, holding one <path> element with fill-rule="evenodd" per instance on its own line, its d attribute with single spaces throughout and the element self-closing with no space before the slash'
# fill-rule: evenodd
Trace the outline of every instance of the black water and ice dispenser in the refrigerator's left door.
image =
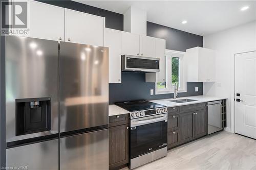
<svg viewBox="0 0 256 170">
<path fill-rule="evenodd" d="M 51 129 L 51 99 L 16 99 L 16 136 Z"/>
</svg>

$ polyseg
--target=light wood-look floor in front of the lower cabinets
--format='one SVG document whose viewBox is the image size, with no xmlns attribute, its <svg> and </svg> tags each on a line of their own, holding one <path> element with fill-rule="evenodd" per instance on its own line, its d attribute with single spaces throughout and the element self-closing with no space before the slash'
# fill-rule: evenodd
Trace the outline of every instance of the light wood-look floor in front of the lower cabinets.
<svg viewBox="0 0 256 170">
<path fill-rule="evenodd" d="M 256 169 L 256 140 L 217 132 L 169 150 L 166 157 L 136 168 L 142 169 Z"/>
</svg>

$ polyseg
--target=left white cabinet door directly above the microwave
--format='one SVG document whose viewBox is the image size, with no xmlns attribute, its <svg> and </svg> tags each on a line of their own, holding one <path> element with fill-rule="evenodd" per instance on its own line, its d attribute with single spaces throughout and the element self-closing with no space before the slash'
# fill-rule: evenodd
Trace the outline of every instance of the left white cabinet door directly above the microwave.
<svg viewBox="0 0 256 170">
<path fill-rule="evenodd" d="M 140 36 L 128 32 L 122 32 L 121 42 L 122 55 L 140 55 Z"/>
</svg>

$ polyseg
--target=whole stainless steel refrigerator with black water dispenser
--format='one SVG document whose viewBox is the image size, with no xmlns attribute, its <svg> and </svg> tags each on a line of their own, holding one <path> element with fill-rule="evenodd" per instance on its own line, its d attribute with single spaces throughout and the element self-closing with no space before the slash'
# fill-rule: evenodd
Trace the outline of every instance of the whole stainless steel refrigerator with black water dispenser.
<svg viewBox="0 0 256 170">
<path fill-rule="evenodd" d="M 6 38 L 6 166 L 108 169 L 108 48 Z"/>
</svg>

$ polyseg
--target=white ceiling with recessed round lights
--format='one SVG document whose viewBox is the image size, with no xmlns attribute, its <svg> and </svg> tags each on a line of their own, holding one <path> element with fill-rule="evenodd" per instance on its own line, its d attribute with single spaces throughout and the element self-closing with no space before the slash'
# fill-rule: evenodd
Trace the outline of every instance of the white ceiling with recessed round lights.
<svg viewBox="0 0 256 170">
<path fill-rule="evenodd" d="M 147 11 L 147 21 L 198 35 L 256 20 L 256 1 L 75 1 L 120 14 L 135 6 Z"/>
</svg>

